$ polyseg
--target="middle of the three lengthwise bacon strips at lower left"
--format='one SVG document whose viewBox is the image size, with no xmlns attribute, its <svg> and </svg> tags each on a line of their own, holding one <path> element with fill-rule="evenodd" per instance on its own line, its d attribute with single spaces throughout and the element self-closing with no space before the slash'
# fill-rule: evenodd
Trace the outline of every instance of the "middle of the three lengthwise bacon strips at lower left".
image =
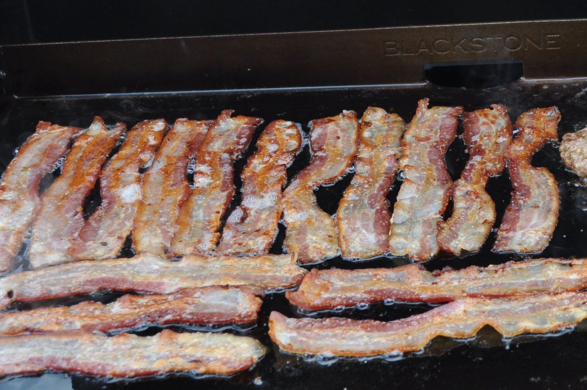
<svg viewBox="0 0 587 390">
<path fill-rule="evenodd" d="M 0 312 L 0 335 L 24 332 L 112 332 L 148 325 L 210 325 L 257 320 L 259 287 L 187 288 L 171 294 L 124 295 L 104 305 L 85 301 L 69 307 Z"/>
</svg>

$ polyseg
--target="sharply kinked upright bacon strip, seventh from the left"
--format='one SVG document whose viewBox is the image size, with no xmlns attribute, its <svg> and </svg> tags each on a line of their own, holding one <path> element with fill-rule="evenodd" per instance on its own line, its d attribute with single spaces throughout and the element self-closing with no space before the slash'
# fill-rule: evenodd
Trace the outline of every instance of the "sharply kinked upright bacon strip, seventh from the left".
<svg viewBox="0 0 587 390">
<path fill-rule="evenodd" d="M 284 247 L 300 263 L 316 263 L 339 253 L 334 219 L 317 204 L 313 189 L 344 176 L 357 154 L 359 121 L 352 111 L 312 121 L 309 166 L 284 191 Z"/>
</svg>

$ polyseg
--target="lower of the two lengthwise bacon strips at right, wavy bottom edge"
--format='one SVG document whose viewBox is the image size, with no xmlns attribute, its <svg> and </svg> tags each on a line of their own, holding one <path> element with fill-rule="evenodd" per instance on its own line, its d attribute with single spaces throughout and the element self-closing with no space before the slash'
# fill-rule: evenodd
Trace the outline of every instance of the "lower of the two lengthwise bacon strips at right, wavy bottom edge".
<svg viewBox="0 0 587 390">
<path fill-rule="evenodd" d="M 490 325 L 505 337 L 546 333 L 587 318 L 587 293 L 536 294 L 500 299 L 461 298 L 402 320 L 269 316 L 269 335 L 296 354 L 373 356 L 419 351 L 437 336 L 473 337 Z"/>
</svg>

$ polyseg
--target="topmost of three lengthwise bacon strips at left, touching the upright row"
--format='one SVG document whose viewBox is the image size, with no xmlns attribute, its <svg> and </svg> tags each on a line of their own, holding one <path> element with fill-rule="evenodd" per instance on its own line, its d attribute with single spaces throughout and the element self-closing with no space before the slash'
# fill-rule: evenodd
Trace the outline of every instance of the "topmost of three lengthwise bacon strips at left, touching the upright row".
<svg viewBox="0 0 587 390">
<path fill-rule="evenodd" d="M 0 278 L 0 307 L 11 302 L 89 294 L 99 290 L 168 294 L 209 285 L 257 285 L 265 290 L 294 287 L 308 272 L 295 255 L 255 257 L 190 255 L 171 261 L 151 254 L 86 260 Z"/>
</svg>

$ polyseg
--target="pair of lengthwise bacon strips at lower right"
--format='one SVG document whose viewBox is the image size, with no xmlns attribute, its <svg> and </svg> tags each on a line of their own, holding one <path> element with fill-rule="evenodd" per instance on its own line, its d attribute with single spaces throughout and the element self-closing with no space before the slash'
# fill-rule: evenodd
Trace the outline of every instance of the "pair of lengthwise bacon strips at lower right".
<svg viewBox="0 0 587 390">
<path fill-rule="evenodd" d="M 282 351 L 323 357 L 419 351 L 436 336 L 473 337 L 490 325 L 505 337 L 547 333 L 587 318 L 587 259 L 537 259 L 430 273 L 416 264 L 369 270 L 312 270 L 288 300 L 307 310 L 372 302 L 450 302 L 402 320 L 269 316 Z"/>
</svg>

